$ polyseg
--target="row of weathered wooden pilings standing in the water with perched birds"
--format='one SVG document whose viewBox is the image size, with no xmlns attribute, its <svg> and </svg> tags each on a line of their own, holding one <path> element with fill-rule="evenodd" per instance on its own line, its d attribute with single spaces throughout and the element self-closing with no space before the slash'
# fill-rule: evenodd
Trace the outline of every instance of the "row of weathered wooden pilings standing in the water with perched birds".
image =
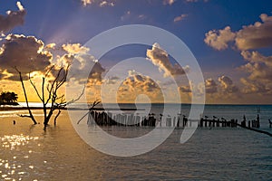
<svg viewBox="0 0 272 181">
<path fill-rule="evenodd" d="M 162 125 L 162 120 L 165 120 L 165 124 Z M 94 123 L 95 122 L 95 123 Z M 160 115 L 159 119 L 156 119 L 154 114 L 151 114 L 147 117 L 141 117 L 140 115 L 134 114 L 113 114 L 112 112 L 105 111 L 90 111 L 88 118 L 88 125 L 99 125 L 99 126 L 137 126 L 137 127 L 192 127 L 195 126 L 196 122 L 198 122 L 198 126 L 200 128 L 205 127 L 231 127 L 235 128 L 238 126 L 238 119 L 208 119 L 208 117 L 201 118 L 198 120 L 189 120 L 184 115 L 179 115 L 178 117 L 166 117 L 164 118 Z M 241 122 L 242 127 L 247 127 L 246 118 L 244 117 Z M 248 127 L 259 128 L 259 117 L 257 116 L 256 120 L 248 121 Z"/>
</svg>

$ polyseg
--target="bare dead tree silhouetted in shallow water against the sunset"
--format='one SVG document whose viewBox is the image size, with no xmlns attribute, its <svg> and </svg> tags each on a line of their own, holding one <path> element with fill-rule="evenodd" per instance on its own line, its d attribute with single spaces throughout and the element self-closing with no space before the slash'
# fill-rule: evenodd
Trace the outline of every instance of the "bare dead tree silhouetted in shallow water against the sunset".
<svg viewBox="0 0 272 181">
<path fill-rule="evenodd" d="M 83 95 L 83 92 L 82 92 L 82 94 L 77 99 L 70 100 L 70 101 L 64 100 L 64 94 L 59 95 L 59 90 L 64 85 L 64 82 L 67 79 L 69 67 L 70 67 L 70 65 L 68 65 L 66 67 L 61 67 L 59 70 L 57 70 L 53 80 L 50 80 L 49 75 L 50 75 L 50 72 L 54 71 L 53 69 L 55 67 L 52 66 L 50 69 L 48 69 L 48 71 L 45 72 L 44 76 L 42 77 L 41 90 L 38 90 L 34 81 L 32 81 L 32 77 L 30 76 L 30 73 L 29 73 L 28 80 L 30 81 L 32 87 L 34 88 L 35 93 L 38 96 L 39 100 L 41 100 L 41 102 L 43 104 L 44 130 L 46 129 L 48 122 L 52 118 L 53 112 L 55 110 L 58 110 L 58 112 L 54 117 L 54 121 L 53 121 L 54 125 L 56 125 L 56 120 L 59 117 L 59 115 L 61 114 L 61 110 L 63 110 L 68 104 L 71 104 L 76 100 L 79 100 Z M 37 124 L 37 121 L 35 120 L 35 118 L 33 116 L 32 110 L 29 107 L 27 94 L 26 94 L 26 90 L 24 87 L 24 80 L 22 77 L 22 72 L 19 71 L 16 67 L 15 67 L 15 70 L 18 72 L 18 74 L 20 76 L 20 81 L 22 84 L 22 88 L 24 90 L 24 99 L 26 101 L 26 106 L 27 106 L 27 110 L 29 113 L 29 115 L 19 115 L 19 116 L 30 118 L 34 121 L 34 124 Z M 83 91 L 84 91 L 84 89 L 83 89 Z"/>
</svg>

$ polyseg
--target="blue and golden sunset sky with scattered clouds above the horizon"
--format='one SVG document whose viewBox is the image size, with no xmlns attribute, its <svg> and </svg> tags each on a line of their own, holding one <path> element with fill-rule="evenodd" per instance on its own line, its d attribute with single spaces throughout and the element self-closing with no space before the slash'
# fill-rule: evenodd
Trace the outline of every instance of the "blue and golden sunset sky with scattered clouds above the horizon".
<svg viewBox="0 0 272 181">
<path fill-rule="evenodd" d="M 180 65 L 167 47 L 161 47 L 163 42 L 121 46 L 98 60 L 92 52 L 96 47 L 86 43 L 129 24 L 159 27 L 180 38 L 197 60 L 204 81 L 189 80 L 193 68 Z M 272 103 L 270 1 L 0 0 L 0 35 L 0 90 L 15 91 L 19 101 L 24 95 L 15 66 L 24 73 L 30 100 L 36 101 L 28 73 L 38 85 L 53 64 L 72 63 L 69 89 L 85 83 L 89 100 L 103 95 L 104 101 L 134 102 L 145 101 L 139 95 L 146 95 L 152 102 L 190 103 L 192 96 L 205 96 L 206 103 Z M 143 59 L 123 61 L 133 57 Z M 89 73 L 87 81 L 83 72 Z"/>
</svg>

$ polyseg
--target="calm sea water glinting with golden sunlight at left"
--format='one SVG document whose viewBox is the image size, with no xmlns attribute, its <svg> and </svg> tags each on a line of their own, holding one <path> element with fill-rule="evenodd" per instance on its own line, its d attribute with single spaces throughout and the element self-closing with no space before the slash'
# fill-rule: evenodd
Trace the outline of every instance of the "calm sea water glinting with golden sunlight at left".
<svg viewBox="0 0 272 181">
<path fill-rule="evenodd" d="M 157 104 L 151 111 L 158 114 L 161 107 Z M 260 129 L 272 132 L 267 121 L 272 119 L 272 106 L 208 105 L 203 115 L 256 119 L 257 109 Z M 272 180 L 272 138 L 247 129 L 199 128 L 185 144 L 180 144 L 182 129 L 175 129 L 151 152 L 112 157 L 85 144 L 66 111 L 58 126 L 46 132 L 43 125 L 33 126 L 29 119 L 15 116 L 22 112 L 0 112 L 3 180 Z M 181 112 L 188 114 L 189 105 L 183 105 Z M 34 110 L 34 115 L 42 116 L 41 110 Z M 114 129 L 126 134 L 133 130 Z"/>
</svg>

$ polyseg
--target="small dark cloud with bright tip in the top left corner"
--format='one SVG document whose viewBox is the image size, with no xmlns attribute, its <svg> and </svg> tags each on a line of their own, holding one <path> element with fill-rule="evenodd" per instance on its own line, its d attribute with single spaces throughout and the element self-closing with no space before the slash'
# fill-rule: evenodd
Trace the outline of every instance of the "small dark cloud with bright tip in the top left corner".
<svg viewBox="0 0 272 181">
<path fill-rule="evenodd" d="M 6 15 L 0 14 L 0 33 L 7 33 L 15 28 L 15 26 L 24 24 L 24 16 L 26 11 L 24 6 L 17 2 L 19 11 L 7 11 Z"/>
</svg>

